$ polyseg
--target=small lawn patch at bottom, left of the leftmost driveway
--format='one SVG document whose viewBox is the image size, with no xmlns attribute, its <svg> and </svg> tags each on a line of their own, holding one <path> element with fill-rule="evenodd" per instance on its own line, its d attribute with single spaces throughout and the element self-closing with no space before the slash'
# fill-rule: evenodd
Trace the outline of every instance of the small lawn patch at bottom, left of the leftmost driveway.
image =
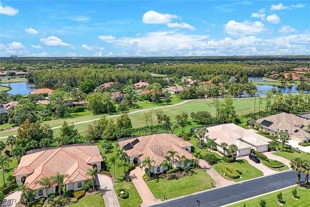
<svg viewBox="0 0 310 207">
<path fill-rule="evenodd" d="M 86 195 L 78 203 L 69 205 L 68 207 L 105 207 L 103 195 L 101 192 L 92 195 Z"/>
</svg>

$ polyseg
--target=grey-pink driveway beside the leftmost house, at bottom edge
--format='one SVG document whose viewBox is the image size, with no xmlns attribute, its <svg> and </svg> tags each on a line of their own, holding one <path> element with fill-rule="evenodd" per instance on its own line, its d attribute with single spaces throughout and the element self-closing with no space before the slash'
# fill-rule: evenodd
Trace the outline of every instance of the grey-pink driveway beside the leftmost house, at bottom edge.
<svg viewBox="0 0 310 207">
<path fill-rule="evenodd" d="M 96 182 L 100 184 L 100 189 L 105 200 L 106 207 L 119 207 L 111 178 L 107 175 L 97 175 Z"/>
</svg>

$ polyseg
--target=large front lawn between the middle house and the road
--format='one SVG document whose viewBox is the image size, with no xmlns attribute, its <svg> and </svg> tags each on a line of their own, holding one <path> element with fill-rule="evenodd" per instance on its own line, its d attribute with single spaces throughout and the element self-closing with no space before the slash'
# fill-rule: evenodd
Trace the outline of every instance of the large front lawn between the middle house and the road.
<svg viewBox="0 0 310 207">
<path fill-rule="evenodd" d="M 214 179 L 204 170 L 193 170 L 188 176 L 180 179 L 167 180 L 158 178 L 147 181 L 146 184 L 155 198 L 164 200 L 164 194 L 166 194 L 168 199 L 171 199 L 210 189 L 211 182 L 215 183 Z"/>
</svg>

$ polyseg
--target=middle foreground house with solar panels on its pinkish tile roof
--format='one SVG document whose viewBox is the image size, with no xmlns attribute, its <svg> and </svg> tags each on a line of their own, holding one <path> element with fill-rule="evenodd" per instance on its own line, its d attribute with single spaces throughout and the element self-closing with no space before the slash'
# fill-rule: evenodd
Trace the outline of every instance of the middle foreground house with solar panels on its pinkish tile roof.
<svg viewBox="0 0 310 207">
<path fill-rule="evenodd" d="M 141 136 L 133 139 L 120 141 L 119 146 L 124 148 L 124 152 L 128 155 L 130 163 L 135 165 L 140 164 L 146 157 L 154 160 L 151 172 L 162 173 L 166 169 L 163 169 L 161 164 L 168 158 L 168 151 L 173 149 L 177 151 L 177 155 L 182 157 L 183 155 L 190 159 L 196 159 L 190 154 L 191 143 L 183 141 L 174 134 L 159 133 L 147 136 Z M 172 159 L 168 159 L 172 163 Z M 175 158 L 174 167 L 187 167 L 187 163 L 181 162 Z"/>
</svg>

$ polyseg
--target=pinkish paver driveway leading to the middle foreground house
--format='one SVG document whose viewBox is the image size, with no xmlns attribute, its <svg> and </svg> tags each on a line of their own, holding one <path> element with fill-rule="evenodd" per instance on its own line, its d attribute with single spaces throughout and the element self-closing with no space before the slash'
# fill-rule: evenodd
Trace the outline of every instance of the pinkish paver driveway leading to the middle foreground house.
<svg viewBox="0 0 310 207">
<path fill-rule="evenodd" d="M 153 193 L 150 191 L 149 187 L 146 185 L 142 176 L 144 175 L 144 170 L 140 167 L 136 167 L 134 170 L 130 171 L 130 177 L 133 184 L 135 185 L 137 191 L 142 198 L 141 206 L 147 206 L 160 202 L 160 199 L 156 199 Z M 163 195 L 164 196 L 164 195 Z"/>
</svg>

